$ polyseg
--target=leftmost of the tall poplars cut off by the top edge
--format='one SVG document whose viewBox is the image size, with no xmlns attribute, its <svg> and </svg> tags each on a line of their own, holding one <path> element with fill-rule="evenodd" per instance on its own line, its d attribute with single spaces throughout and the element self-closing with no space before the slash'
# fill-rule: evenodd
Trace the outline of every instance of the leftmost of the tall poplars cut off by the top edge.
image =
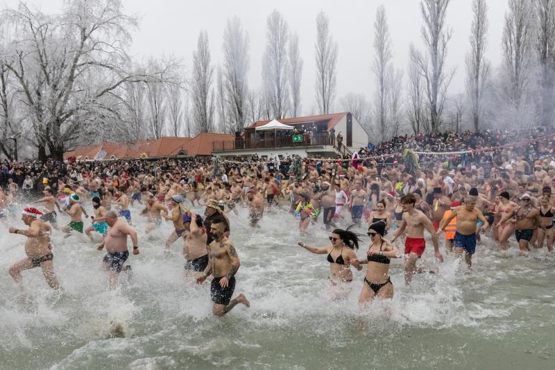
<svg viewBox="0 0 555 370">
<path fill-rule="evenodd" d="M 451 30 L 446 28 L 445 15 L 450 0 L 422 0 L 420 12 L 424 25 L 422 26 L 422 40 L 427 55 L 412 48 L 411 58 L 420 69 L 424 77 L 427 114 L 430 129 L 438 132 L 442 122 L 443 108 L 447 87 L 449 87 L 454 72 L 445 74 L 445 58 L 447 57 L 447 42 L 451 39 Z"/>
</svg>

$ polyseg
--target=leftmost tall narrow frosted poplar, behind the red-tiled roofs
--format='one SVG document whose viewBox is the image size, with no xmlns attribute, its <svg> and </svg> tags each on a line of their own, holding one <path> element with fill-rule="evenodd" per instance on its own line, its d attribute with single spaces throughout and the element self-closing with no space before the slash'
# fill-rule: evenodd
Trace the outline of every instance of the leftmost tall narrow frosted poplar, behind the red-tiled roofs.
<svg viewBox="0 0 555 370">
<path fill-rule="evenodd" d="M 214 128 L 213 75 L 214 67 L 212 67 L 210 60 L 208 35 L 206 31 L 200 31 L 197 49 L 193 53 L 193 76 L 191 81 L 193 122 L 196 131 L 199 133 L 208 133 Z"/>
</svg>

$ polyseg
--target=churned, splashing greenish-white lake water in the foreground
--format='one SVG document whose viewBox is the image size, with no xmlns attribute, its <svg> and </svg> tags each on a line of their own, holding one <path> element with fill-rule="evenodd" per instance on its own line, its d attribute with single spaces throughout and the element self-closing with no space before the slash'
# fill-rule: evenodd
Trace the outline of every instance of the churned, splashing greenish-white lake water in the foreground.
<svg viewBox="0 0 555 370">
<path fill-rule="evenodd" d="M 216 318 L 209 284 L 183 277 L 182 242 L 164 253 L 171 224 L 145 235 L 138 213 L 141 254 L 130 255 L 133 277 L 121 274 L 115 290 L 100 269 L 105 252 L 54 232 L 61 296 L 40 269 L 24 271 L 24 292 L 17 287 L 8 268 L 24 258 L 24 237 L 0 224 L 0 369 L 545 369 L 553 361 L 555 258 L 545 250 L 518 258 L 484 237 L 472 271 L 448 256 L 440 274 L 415 276 L 411 287 L 393 260 L 393 300 L 361 311 L 364 271 L 355 271 L 347 299 L 331 301 L 325 256 L 296 246 L 296 219 L 268 210 L 250 228 L 239 210 L 231 215 L 241 259 L 234 296 L 244 292 L 251 308 Z M 309 232 L 305 241 L 326 244 L 322 224 Z M 436 264 L 431 242 L 419 263 Z"/>
</svg>

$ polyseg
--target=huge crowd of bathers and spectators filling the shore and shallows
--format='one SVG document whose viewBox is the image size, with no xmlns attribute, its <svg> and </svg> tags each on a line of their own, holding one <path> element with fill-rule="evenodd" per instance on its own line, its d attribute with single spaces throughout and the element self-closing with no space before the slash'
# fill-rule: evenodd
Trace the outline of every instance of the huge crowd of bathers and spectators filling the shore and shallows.
<svg viewBox="0 0 555 370">
<path fill-rule="evenodd" d="M 352 268 L 361 270 L 363 264 L 367 267 L 359 303 L 391 298 L 391 258 L 404 257 L 407 285 L 415 274 L 438 272 L 437 267 L 418 266 L 426 249 L 425 233 L 439 262 L 443 253 L 454 253 L 463 256 L 469 268 L 484 233 L 500 249 L 509 249 L 514 235 L 520 255 L 544 246 L 553 251 L 555 154 L 550 137 L 537 129 L 396 137 L 361 149 L 348 160 L 307 159 L 300 174 L 293 174 L 291 158 L 278 156 L 223 161 L 218 168 L 212 160 L 196 158 L 3 162 L 0 219 L 13 224 L 10 217 L 20 207 L 28 226 L 9 228 L 27 237 L 27 257 L 13 264 L 9 273 L 20 282 L 22 271 L 41 267 L 49 285 L 62 289 L 53 267 L 52 230 L 91 240 L 96 234 L 102 239 L 98 249 L 107 252 L 103 266 L 110 286 L 116 286 L 119 274 L 131 270 L 126 264 L 128 237 L 133 254 L 139 254 L 130 212 L 138 208 L 148 221 L 146 233 L 164 221 L 173 223 L 165 247 L 182 244 L 187 279 L 211 279 L 213 312 L 221 316 L 239 303 L 250 305 L 244 294 L 232 298 L 241 264 L 230 218 L 245 207 L 250 226 L 260 228 L 264 211 L 275 208 L 298 219 L 301 237 L 308 237 L 310 228 L 330 233 L 325 246 L 304 241 L 298 245 L 327 255 L 336 298 L 348 292 Z M 511 140 L 518 144 L 499 148 Z M 422 154 L 420 167 L 409 171 L 402 156 L 390 155 L 407 148 L 468 153 Z M 192 210 L 199 207 L 205 208 L 204 215 Z M 85 227 L 83 217 L 90 218 L 90 226 Z M 370 238 L 363 259 L 356 253 L 362 247 L 357 233 L 361 229 Z M 404 239 L 402 251 L 397 239 Z"/>
</svg>

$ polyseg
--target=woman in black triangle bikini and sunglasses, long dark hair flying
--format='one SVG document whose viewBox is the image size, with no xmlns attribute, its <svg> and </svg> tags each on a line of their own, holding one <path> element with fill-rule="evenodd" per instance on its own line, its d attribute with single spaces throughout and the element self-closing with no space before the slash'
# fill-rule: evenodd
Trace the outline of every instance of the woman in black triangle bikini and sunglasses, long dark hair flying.
<svg viewBox="0 0 555 370">
<path fill-rule="evenodd" d="M 330 280 L 332 285 L 337 283 L 350 283 L 352 281 L 351 262 L 357 260 L 355 249 L 359 249 L 358 234 L 347 230 L 336 228 L 330 235 L 330 244 L 324 247 L 311 246 L 304 242 L 298 242 L 302 248 L 314 254 L 327 254 L 327 262 L 330 262 Z M 362 267 L 358 266 L 357 270 Z"/>
</svg>

